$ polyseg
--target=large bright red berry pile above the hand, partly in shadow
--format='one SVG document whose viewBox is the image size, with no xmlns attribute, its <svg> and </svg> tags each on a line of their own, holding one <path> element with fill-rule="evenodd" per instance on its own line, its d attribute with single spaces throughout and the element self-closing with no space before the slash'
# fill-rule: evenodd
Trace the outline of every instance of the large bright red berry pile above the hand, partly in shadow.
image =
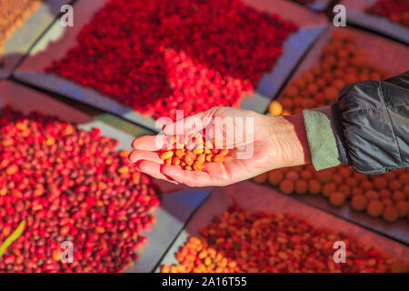
<svg viewBox="0 0 409 291">
<path fill-rule="evenodd" d="M 240 0 L 111 0 L 47 68 L 149 116 L 238 106 L 297 27 Z"/>
</svg>

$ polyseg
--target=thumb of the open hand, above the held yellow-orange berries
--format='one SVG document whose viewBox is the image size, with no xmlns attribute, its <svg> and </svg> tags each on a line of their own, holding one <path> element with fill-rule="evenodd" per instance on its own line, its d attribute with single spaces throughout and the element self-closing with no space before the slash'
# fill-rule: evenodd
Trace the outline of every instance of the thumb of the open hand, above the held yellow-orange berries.
<svg viewBox="0 0 409 291">
<path fill-rule="evenodd" d="M 165 125 L 165 135 L 191 135 L 203 130 L 212 121 L 216 109 L 211 108 L 206 111 L 190 115 L 173 124 Z"/>
</svg>

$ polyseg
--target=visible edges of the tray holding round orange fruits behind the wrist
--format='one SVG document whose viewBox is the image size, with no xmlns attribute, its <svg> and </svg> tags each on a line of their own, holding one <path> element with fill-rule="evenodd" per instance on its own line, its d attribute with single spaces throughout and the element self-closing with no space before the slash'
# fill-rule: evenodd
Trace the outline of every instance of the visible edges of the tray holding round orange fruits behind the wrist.
<svg viewBox="0 0 409 291">
<path fill-rule="evenodd" d="M 404 73 L 409 68 L 409 49 L 407 46 L 350 27 L 331 27 L 324 32 L 309 53 L 305 55 L 303 62 L 297 67 L 294 75 L 292 75 L 287 84 L 292 84 L 297 77 L 318 64 L 323 47 L 328 44 L 331 35 L 336 29 L 342 29 L 345 34 L 353 35 L 356 41 L 356 47 L 363 49 L 365 55 L 372 61 L 372 64 L 384 68 L 387 75 L 398 75 Z M 396 55 L 399 55 L 399 57 L 396 57 Z M 278 97 L 281 95 L 282 94 Z M 344 217 L 357 225 L 371 228 L 385 236 L 390 236 L 405 244 L 409 244 L 409 225 L 402 219 L 394 224 L 388 224 L 380 218 L 372 218 L 365 214 L 356 213 L 350 206 L 339 208 L 331 206 L 328 200 L 322 196 L 316 197 L 307 194 L 304 196 L 296 196 L 296 198 L 312 206 L 331 212 L 336 216 Z"/>
</svg>

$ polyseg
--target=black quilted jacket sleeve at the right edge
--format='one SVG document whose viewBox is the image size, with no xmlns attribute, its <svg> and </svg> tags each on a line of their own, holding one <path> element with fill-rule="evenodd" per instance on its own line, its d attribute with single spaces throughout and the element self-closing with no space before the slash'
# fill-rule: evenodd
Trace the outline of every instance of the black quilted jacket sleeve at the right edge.
<svg viewBox="0 0 409 291">
<path fill-rule="evenodd" d="M 409 71 L 346 85 L 332 109 L 345 164 L 363 174 L 409 166 Z"/>
</svg>

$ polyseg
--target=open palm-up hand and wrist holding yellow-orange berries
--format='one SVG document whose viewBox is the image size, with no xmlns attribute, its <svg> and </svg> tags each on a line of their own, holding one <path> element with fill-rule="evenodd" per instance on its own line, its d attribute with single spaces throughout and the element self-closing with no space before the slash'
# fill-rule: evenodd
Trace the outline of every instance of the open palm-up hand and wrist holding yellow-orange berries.
<svg viewBox="0 0 409 291">
<path fill-rule="evenodd" d="M 233 120 L 233 124 L 214 122 L 217 118 Z M 197 126 L 197 120 L 202 126 Z M 247 121 L 253 125 L 248 126 Z M 202 171 L 164 165 L 157 151 L 165 145 L 166 135 L 175 135 L 178 126 L 184 135 L 212 128 L 214 136 L 222 137 L 224 148 L 230 149 L 229 155 L 223 163 L 206 163 Z M 147 175 L 187 186 L 225 186 L 274 168 L 310 163 L 302 115 L 269 116 L 244 109 L 213 107 L 185 117 L 183 122 L 165 125 L 163 132 L 165 135 L 136 138 L 129 161 L 138 163 L 139 170 Z"/>
</svg>

